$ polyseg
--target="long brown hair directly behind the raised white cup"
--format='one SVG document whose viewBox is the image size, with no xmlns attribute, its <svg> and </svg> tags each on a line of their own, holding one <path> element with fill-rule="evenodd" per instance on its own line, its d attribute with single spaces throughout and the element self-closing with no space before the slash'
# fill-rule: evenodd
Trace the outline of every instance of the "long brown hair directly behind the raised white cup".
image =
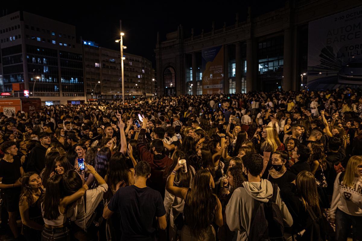
<svg viewBox="0 0 362 241">
<path fill-rule="evenodd" d="M 178 187 L 189 188 L 194 173 L 190 169 L 189 160 L 188 160 L 188 157 L 185 154 L 185 152 L 180 151 L 180 150 L 175 151 L 175 154 L 173 155 L 173 162 L 170 165 L 170 167 L 167 169 L 167 177 L 169 175 L 171 175 L 172 170 L 176 167 L 176 165 L 178 165 L 178 159 L 180 159 L 180 160 L 185 159 L 186 160 L 187 172 L 186 173 L 183 173 L 181 171 L 176 172 L 176 176 L 175 176 L 175 179 L 173 181 L 174 185 L 178 186 Z"/>
</svg>

